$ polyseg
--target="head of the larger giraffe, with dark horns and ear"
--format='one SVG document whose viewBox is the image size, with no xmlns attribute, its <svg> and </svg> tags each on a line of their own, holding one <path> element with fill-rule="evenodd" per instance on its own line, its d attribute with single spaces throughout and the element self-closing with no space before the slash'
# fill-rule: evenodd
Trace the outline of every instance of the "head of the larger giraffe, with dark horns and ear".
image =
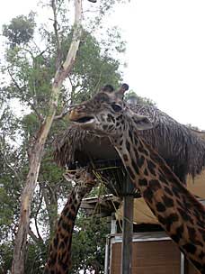
<svg viewBox="0 0 205 274">
<path fill-rule="evenodd" d="M 93 98 L 85 103 L 76 105 L 69 114 L 71 122 L 99 135 L 118 137 L 126 128 L 126 124 L 134 123 L 137 130 L 146 130 L 153 124 L 146 116 L 132 112 L 123 100 L 127 84 L 119 90 L 111 85 L 103 87 Z"/>
</svg>

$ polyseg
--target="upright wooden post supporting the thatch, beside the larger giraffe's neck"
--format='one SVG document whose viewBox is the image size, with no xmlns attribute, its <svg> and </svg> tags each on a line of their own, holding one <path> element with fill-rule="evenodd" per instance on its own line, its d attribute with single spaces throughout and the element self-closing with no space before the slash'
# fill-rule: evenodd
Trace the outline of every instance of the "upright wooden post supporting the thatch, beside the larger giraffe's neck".
<svg viewBox="0 0 205 274">
<path fill-rule="evenodd" d="M 121 274 L 131 274 L 134 196 L 123 197 Z"/>
</svg>

